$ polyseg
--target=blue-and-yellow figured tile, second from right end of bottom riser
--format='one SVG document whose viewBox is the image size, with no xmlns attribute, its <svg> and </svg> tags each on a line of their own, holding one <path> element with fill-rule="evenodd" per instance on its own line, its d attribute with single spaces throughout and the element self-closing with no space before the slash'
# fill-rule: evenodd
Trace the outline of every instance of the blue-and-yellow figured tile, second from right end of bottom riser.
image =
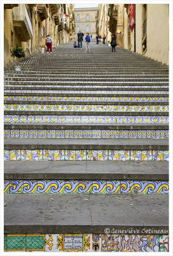
<svg viewBox="0 0 173 256">
<path fill-rule="evenodd" d="M 140 235 L 140 252 L 159 252 L 159 236 Z"/>
</svg>

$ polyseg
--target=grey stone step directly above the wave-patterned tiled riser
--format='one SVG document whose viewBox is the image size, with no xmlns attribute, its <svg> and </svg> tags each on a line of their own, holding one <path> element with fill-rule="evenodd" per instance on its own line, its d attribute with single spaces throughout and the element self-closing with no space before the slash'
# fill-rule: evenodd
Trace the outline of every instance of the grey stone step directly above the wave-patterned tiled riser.
<svg viewBox="0 0 173 256">
<path fill-rule="evenodd" d="M 4 161 L 4 180 L 169 180 L 168 161 Z"/>
</svg>

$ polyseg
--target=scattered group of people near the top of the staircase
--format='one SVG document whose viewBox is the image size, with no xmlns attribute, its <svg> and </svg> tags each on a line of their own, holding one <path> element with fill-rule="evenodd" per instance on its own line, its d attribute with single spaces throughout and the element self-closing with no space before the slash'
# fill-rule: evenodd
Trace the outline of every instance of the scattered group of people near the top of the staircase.
<svg viewBox="0 0 173 256">
<path fill-rule="evenodd" d="M 81 31 L 79 31 L 79 33 L 77 34 L 77 41 L 78 41 L 78 44 L 77 42 L 75 41 L 74 44 L 73 44 L 73 47 L 74 48 L 78 48 L 78 49 L 82 49 L 82 42 L 83 42 L 83 38 L 84 38 L 84 33 L 82 33 Z M 91 38 L 92 38 L 92 35 L 91 35 Z M 103 36 L 103 44 L 105 44 L 105 40 L 106 40 L 106 36 L 104 35 Z M 98 44 L 99 40 L 101 41 L 102 39 L 102 36 L 99 36 L 97 35 L 96 36 L 96 44 Z M 89 51 L 90 52 L 90 46 L 89 46 L 89 43 L 91 42 L 90 40 L 90 36 L 89 36 L 89 33 L 86 33 L 86 51 Z M 45 39 L 45 43 L 47 45 L 47 53 L 49 54 L 49 49 L 50 49 L 50 53 L 52 53 L 52 38 L 50 37 L 50 35 L 47 35 L 46 39 Z M 112 40 L 110 42 L 110 45 L 112 46 L 112 52 L 116 51 L 116 34 L 113 34 L 112 35 Z"/>
</svg>

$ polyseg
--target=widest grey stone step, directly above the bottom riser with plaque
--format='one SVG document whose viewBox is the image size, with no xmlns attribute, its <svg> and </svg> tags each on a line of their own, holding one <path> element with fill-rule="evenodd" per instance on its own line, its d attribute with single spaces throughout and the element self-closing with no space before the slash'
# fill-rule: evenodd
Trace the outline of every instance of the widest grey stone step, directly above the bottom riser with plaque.
<svg viewBox="0 0 173 256">
<path fill-rule="evenodd" d="M 7 234 L 104 234 L 105 228 L 133 227 L 139 234 L 144 228 L 169 232 L 167 195 L 9 194 L 4 203 Z"/>
</svg>

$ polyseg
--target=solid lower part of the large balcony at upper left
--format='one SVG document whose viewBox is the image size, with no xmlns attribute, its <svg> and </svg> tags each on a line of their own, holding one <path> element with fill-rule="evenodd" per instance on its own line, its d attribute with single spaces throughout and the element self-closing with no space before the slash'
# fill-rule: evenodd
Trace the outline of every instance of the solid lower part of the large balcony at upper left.
<svg viewBox="0 0 173 256">
<path fill-rule="evenodd" d="M 27 42 L 33 35 L 31 24 L 29 24 L 30 20 L 27 20 L 25 15 L 12 15 L 12 17 L 15 32 L 21 42 Z"/>
</svg>

